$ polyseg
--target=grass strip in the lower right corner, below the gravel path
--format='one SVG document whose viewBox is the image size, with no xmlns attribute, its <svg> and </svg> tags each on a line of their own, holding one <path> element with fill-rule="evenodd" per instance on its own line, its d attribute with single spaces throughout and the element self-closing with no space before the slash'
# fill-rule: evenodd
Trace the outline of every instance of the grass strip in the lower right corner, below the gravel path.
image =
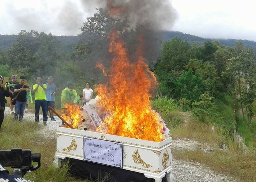
<svg viewBox="0 0 256 182">
<path fill-rule="evenodd" d="M 234 153 L 233 151 L 214 150 L 213 153 L 203 151 L 172 151 L 173 156 L 185 161 L 202 163 L 216 172 L 224 172 L 242 181 L 256 181 L 256 154 Z"/>
</svg>

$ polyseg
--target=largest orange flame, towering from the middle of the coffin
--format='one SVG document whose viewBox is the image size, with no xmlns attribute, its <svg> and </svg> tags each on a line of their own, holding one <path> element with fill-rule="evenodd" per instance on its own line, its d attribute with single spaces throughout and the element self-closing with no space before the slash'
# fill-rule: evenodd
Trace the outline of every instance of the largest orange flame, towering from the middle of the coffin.
<svg viewBox="0 0 256 182">
<path fill-rule="evenodd" d="M 150 90 L 157 82 L 144 62 L 142 39 L 139 39 L 134 63 L 129 61 L 127 48 L 114 30 L 109 39 L 109 52 L 113 54 L 109 82 L 106 85 L 99 84 L 95 89 L 99 96 L 98 104 L 107 114 L 105 124 L 98 131 L 104 126 L 108 134 L 162 141 L 165 137 L 162 134 L 161 118 L 150 108 Z M 103 69 L 102 66 L 100 68 Z"/>
</svg>

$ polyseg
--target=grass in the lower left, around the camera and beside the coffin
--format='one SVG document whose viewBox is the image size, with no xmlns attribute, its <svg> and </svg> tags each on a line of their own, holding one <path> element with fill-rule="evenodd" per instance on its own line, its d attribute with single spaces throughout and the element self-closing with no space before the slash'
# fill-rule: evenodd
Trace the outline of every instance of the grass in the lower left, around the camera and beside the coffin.
<svg viewBox="0 0 256 182">
<path fill-rule="evenodd" d="M 35 182 L 82 182 L 68 174 L 67 165 L 55 168 L 52 165 L 56 150 L 56 139 L 46 139 L 39 134 L 42 126 L 31 121 L 14 122 L 13 116 L 5 115 L 0 132 L 0 150 L 22 148 L 30 149 L 32 153 L 41 153 L 41 167 L 27 173 L 25 178 Z M 12 169 L 8 167 L 11 172 Z M 85 180 L 84 182 L 89 182 Z"/>
</svg>

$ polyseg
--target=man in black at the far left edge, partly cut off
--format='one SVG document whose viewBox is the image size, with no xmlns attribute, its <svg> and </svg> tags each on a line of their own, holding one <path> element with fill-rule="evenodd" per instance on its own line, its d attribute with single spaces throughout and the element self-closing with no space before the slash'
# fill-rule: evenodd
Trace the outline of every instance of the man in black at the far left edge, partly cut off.
<svg viewBox="0 0 256 182">
<path fill-rule="evenodd" d="M 5 98 L 9 97 L 9 88 L 5 87 L 4 78 L 0 75 L 0 131 L 4 120 Z"/>
</svg>

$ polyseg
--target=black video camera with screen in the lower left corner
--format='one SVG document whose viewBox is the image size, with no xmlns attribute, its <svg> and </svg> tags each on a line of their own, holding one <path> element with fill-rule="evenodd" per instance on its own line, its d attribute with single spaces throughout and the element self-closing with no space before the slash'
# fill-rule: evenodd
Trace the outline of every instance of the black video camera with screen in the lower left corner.
<svg viewBox="0 0 256 182">
<path fill-rule="evenodd" d="M 37 162 L 37 165 L 33 166 L 32 161 Z M 41 166 L 41 153 L 32 154 L 29 149 L 0 150 L 0 164 L 17 168 L 12 174 L 23 177 L 27 171 L 37 170 Z"/>
</svg>

